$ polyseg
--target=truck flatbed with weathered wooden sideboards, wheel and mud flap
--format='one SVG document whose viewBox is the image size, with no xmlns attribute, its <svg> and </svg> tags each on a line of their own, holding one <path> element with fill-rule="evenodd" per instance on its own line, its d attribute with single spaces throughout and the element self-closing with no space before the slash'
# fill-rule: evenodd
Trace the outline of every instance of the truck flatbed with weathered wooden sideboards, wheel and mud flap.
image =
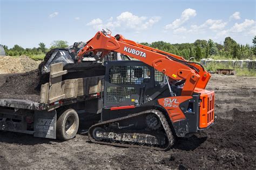
<svg viewBox="0 0 256 170">
<path fill-rule="evenodd" d="M 95 63 L 90 63 L 93 66 Z M 63 70 L 63 63 L 50 65 L 49 82 L 41 86 L 39 102 L 0 99 L 0 130 L 61 140 L 75 137 L 79 125 L 77 111 L 97 114 L 102 110 L 104 75 L 87 77 L 86 71 L 77 73 L 67 67 L 69 74 Z M 104 69 L 99 74 L 103 73 Z"/>
</svg>

